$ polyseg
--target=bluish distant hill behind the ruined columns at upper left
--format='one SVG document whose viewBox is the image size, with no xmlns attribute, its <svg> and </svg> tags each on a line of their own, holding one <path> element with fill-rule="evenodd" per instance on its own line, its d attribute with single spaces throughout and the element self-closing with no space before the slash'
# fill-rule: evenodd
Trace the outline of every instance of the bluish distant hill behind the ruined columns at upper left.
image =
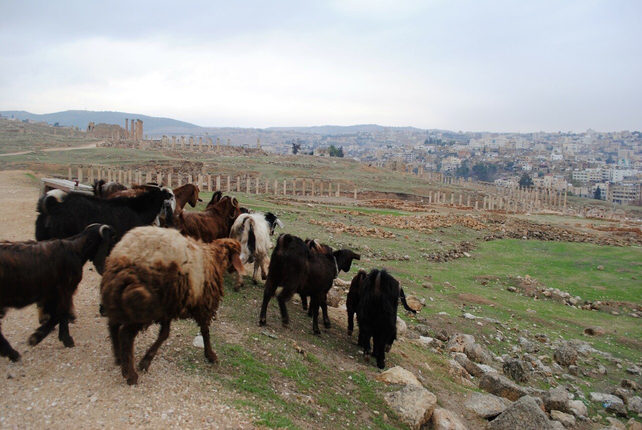
<svg viewBox="0 0 642 430">
<path fill-rule="evenodd" d="M 117 124 L 125 127 L 125 118 L 129 118 L 130 120 L 141 119 L 141 121 L 143 121 L 143 132 L 146 134 L 198 133 L 201 128 L 198 125 L 178 121 L 177 119 L 105 110 L 65 110 L 63 112 L 53 112 L 53 114 L 32 114 L 25 110 L 3 110 L 0 111 L 0 114 L 6 117 L 13 116 L 20 119 L 33 119 L 33 121 L 46 121 L 49 124 L 60 123 L 62 126 L 74 126 L 82 130 L 85 130 L 87 124 L 91 121 L 94 121 L 96 124 Z"/>
</svg>

